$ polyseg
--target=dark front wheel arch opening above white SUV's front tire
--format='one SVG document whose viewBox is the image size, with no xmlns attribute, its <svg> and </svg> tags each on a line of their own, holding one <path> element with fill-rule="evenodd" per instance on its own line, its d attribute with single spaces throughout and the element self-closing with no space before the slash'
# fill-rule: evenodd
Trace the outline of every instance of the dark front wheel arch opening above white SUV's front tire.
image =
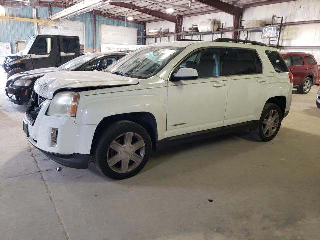
<svg viewBox="0 0 320 240">
<path fill-rule="evenodd" d="M 150 135 L 152 141 L 152 149 L 156 150 L 157 143 L 158 143 L 158 130 L 157 130 L 157 122 L 154 115 L 150 112 L 130 112 L 130 113 L 123 113 L 112 115 L 108 117 L 104 117 L 98 124 L 95 129 L 92 145 L 91 145 L 91 152 L 95 149 L 99 138 L 101 137 L 104 130 L 112 123 L 116 121 L 132 121 L 139 125 L 141 125 Z"/>
</svg>

